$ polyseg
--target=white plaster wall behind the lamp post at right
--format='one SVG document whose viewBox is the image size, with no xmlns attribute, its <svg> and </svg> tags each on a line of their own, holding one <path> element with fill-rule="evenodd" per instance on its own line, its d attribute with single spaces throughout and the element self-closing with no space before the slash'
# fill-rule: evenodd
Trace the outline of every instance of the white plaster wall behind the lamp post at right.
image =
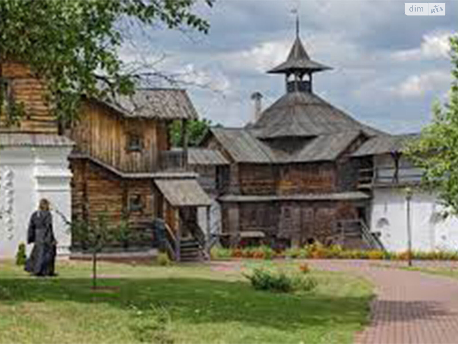
<svg viewBox="0 0 458 344">
<path fill-rule="evenodd" d="M 458 219 L 441 219 L 441 206 L 434 195 L 416 191 L 410 202 L 414 250 L 457 250 Z M 407 250 L 407 212 L 401 188 L 374 189 L 371 231 L 381 232 L 387 250 Z"/>
</svg>

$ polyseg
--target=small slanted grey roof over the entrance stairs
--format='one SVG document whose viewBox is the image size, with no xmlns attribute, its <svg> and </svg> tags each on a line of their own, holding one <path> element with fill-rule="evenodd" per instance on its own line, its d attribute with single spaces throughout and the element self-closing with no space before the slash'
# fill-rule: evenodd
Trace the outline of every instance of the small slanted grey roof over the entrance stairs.
<svg viewBox="0 0 458 344">
<path fill-rule="evenodd" d="M 172 206 L 208 206 L 211 200 L 195 179 L 156 179 L 159 191 Z"/>
</svg>

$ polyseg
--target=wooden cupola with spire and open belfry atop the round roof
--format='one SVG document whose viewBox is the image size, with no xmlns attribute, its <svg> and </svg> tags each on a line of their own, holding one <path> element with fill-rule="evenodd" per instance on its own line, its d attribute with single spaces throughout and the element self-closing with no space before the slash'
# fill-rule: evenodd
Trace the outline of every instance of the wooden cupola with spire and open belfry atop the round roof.
<svg viewBox="0 0 458 344">
<path fill-rule="evenodd" d="M 287 92 L 311 92 L 312 74 L 327 69 L 332 68 L 310 59 L 299 38 L 299 21 L 296 21 L 296 39 L 288 58 L 268 73 L 285 74 Z"/>
</svg>

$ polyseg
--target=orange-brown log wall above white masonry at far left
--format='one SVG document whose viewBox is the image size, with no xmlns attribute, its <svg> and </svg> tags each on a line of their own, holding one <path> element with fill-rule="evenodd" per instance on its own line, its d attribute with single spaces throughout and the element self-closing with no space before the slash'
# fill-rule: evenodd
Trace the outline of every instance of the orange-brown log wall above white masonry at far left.
<svg viewBox="0 0 458 344">
<path fill-rule="evenodd" d="M 0 132 L 57 133 L 58 126 L 45 100 L 46 87 L 26 65 L 16 62 L 1 65 L 1 77 L 8 83 L 17 105 L 23 104 L 25 116 L 20 125 L 6 127 L 0 118 Z"/>
</svg>

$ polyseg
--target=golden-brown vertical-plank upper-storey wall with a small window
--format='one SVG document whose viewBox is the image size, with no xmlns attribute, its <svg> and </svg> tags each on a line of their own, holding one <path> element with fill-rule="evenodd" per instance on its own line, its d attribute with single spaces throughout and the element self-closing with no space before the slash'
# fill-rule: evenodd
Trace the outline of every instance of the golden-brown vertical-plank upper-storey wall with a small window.
<svg viewBox="0 0 458 344">
<path fill-rule="evenodd" d="M 125 118 L 96 101 L 82 105 L 79 122 L 71 130 L 76 149 L 124 172 L 153 172 L 158 155 L 169 149 L 165 122 Z M 138 135 L 142 150 L 128 150 L 129 137 Z"/>
</svg>

